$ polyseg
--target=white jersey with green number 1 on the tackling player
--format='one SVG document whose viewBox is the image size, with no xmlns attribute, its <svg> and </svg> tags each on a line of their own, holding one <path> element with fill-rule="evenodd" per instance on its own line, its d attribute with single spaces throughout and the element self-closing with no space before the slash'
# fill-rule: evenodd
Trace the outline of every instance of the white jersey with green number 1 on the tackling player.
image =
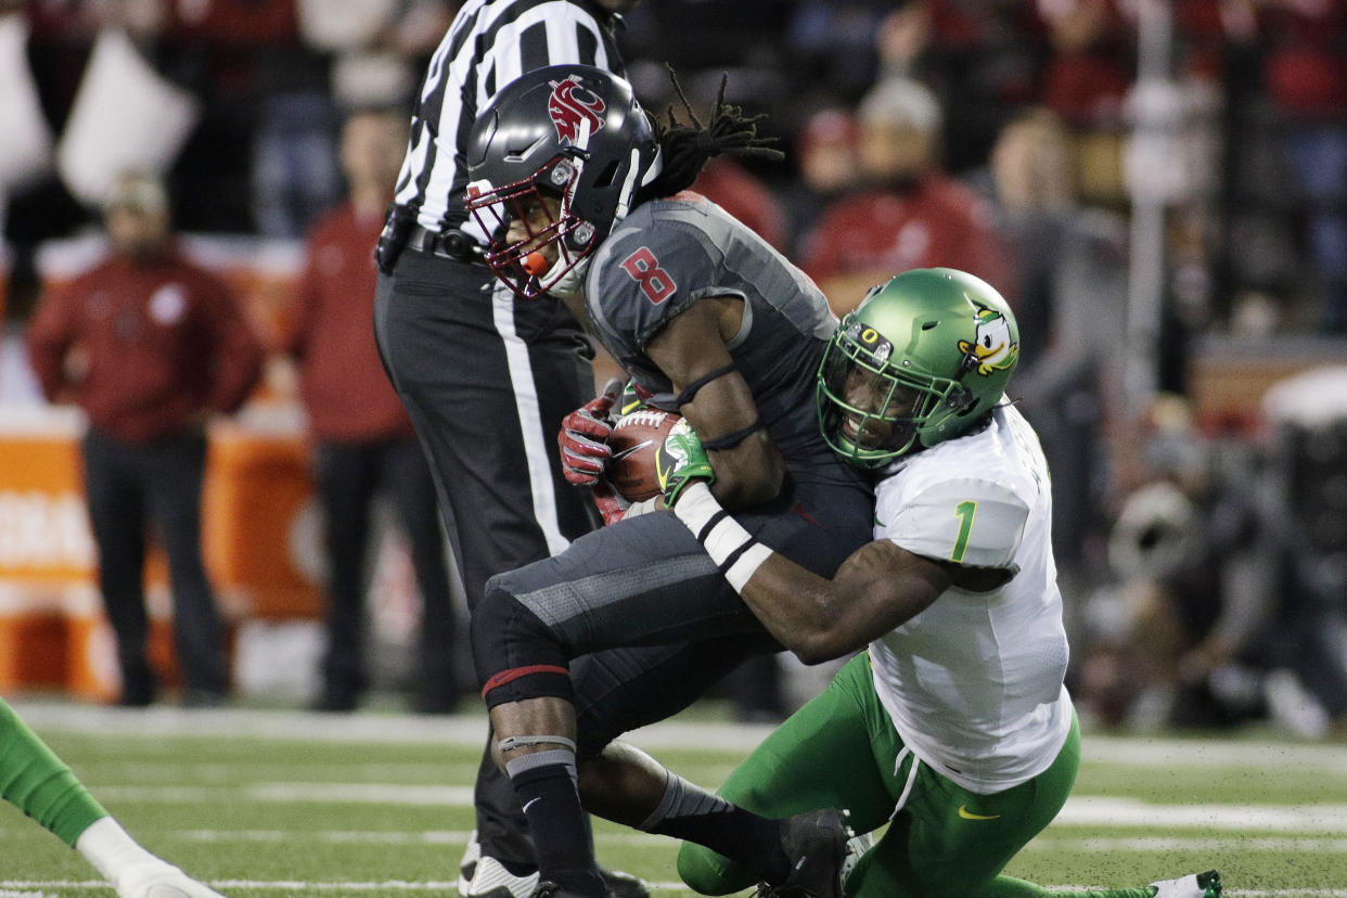
<svg viewBox="0 0 1347 898">
<path fill-rule="evenodd" d="M 1043 450 L 1010 405 L 987 428 L 913 455 L 876 490 L 876 540 L 1016 571 L 990 592 L 951 587 L 870 644 L 874 688 L 902 740 L 981 794 L 1043 773 L 1071 727 L 1051 526 Z"/>
</svg>

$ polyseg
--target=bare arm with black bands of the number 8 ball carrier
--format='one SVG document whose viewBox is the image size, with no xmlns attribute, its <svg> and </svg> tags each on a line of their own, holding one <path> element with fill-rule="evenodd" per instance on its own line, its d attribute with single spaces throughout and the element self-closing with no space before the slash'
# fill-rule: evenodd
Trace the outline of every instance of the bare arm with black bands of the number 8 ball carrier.
<svg viewBox="0 0 1347 898">
<path fill-rule="evenodd" d="M 683 393 L 718 370 L 733 368 L 726 341 L 738 333 L 744 303 L 735 298 L 703 299 L 672 318 L 645 346 L 661 372 Z M 744 377 L 734 370 L 704 381 L 679 408 L 683 417 L 707 444 L 715 470 L 711 490 L 730 508 L 765 502 L 781 490 L 785 459 L 760 424 L 753 393 Z M 748 432 L 730 447 L 717 448 L 723 438 Z"/>
</svg>

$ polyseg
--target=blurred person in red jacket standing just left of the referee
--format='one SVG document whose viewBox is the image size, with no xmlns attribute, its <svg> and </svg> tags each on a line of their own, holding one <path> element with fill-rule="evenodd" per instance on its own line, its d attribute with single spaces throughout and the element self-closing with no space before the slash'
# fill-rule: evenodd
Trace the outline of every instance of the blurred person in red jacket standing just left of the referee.
<svg viewBox="0 0 1347 898">
<path fill-rule="evenodd" d="M 374 242 L 407 145 L 405 116 L 358 110 L 342 127 L 348 199 L 308 236 L 296 326 L 298 358 L 314 436 L 318 494 L 327 524 L 327 654 L 315 708 L 352 711 L 364 692 L 365 548 L 370 502 L 387 490 L 411 544 L 422 591 L 415 707 L 451 711 L 454 607 L 435 485 L 403 404 L 374 346 Z"/>
</svg>

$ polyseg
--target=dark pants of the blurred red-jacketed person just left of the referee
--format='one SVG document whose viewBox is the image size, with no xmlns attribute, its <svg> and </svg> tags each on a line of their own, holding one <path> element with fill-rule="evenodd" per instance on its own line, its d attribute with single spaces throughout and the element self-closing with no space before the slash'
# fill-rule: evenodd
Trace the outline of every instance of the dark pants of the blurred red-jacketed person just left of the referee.
<svg viewBox="0 0 1347 898">
<path fill-rule="evenodd" d="M 327 654 L 323 703 L 353 707 L 366 685 L 366 547 L 376 491 L 393 502 L 422 594 L 416 708 L 449 711 L 458 699 L 454 602 L 430 469 L 414 438 L 319 440 L 314 448 L 326 521 Z"/>
</svg>

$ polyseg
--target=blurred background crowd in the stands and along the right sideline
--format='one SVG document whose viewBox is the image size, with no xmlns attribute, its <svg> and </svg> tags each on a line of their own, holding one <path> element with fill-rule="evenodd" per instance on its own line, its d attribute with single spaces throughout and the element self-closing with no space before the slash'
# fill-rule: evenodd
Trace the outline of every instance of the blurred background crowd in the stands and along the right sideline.
<svg viewBox="0 0 1347 898">
<path fill-rule="evenodd" d="M 179 230 L 310 234 L 348 191 L 342 123 L 408 108 L 458 5 L 0 0 L 7 318 L 39 302 L 36 249 L 98 221 L 123 149 Z M 1347 1 L 645 0 L 620 39 L 652 113 L 700 114 L 722 79 L 764 113 L 785 162 L 717 160 L 696 190 L 838 312 L 915 267 L 1006 295 L 1083 707 L 1347 731 L 1347 403 L 1311 384 L 1327 412 L 1212 434 L 1184 399 L 1203 337 L 1347 333 Z M 1156 401 L 1126 386 L 1138 249 L 1162 258 Z M 787 711 L 757 673 L 741 712 Z"/>
</svg>

